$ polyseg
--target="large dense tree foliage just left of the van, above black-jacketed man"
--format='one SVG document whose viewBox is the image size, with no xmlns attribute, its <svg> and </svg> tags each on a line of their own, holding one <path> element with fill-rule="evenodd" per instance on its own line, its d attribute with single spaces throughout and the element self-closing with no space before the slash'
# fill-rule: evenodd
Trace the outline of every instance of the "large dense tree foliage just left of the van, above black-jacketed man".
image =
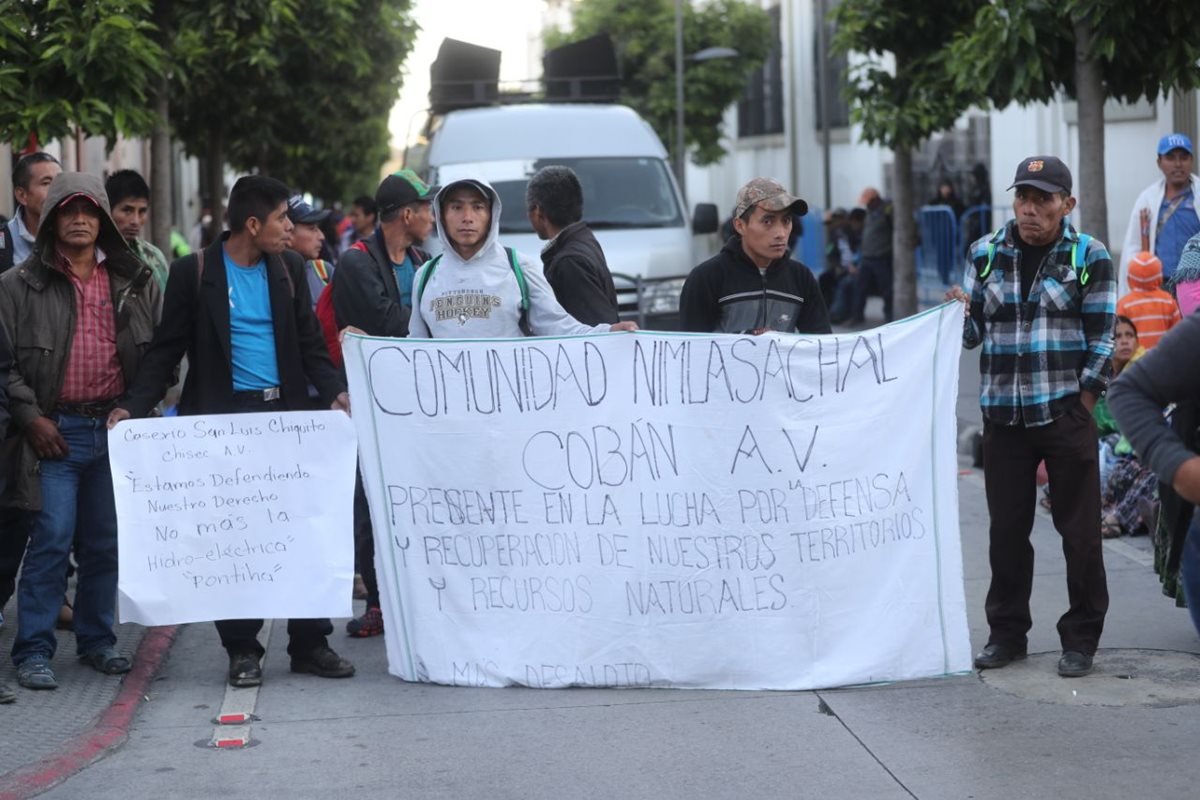
<svg viewBox="0 0 1200 800">
<path fill-rule="evenodd" d="M 228 162 L 326 199 L 373 190 L 415 38 L 410 5 L 176 0 L 172 125 L 205 157 L 209 185 Z"/>
</svg>

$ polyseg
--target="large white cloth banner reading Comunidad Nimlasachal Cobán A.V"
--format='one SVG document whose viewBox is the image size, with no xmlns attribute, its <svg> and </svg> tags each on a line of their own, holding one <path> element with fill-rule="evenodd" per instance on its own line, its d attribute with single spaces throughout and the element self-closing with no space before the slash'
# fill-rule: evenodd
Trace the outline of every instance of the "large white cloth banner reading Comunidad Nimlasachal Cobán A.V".
<svg viewBox="0 0 1200 800">
<path fill-rule="evenodd" d="M 803 690 L 970 669 L 961 319 L 347 337 L 390 670 Z"/>
</svg>

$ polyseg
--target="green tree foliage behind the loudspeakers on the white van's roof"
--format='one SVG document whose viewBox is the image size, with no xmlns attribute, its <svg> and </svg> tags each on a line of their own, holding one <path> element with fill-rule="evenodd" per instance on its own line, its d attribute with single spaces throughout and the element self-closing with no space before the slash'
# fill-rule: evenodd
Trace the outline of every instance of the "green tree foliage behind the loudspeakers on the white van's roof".
<svg viewBox="0 0 1200 800">
<path fill-rule="evenodd" d="M 712 164 L 725 155 L 721 121 L 725 109 L 745 89 L 746 74 L 757 70 L 770 47 L 770 19 L 743 0 L 713 0 L 700 7 L 684 4 L 684 53 L 730 47 L 736 60 L 684 61 L 684 138 L 692 161 Z M 674 1 L 580 0 L 575 29 L 550 31 L 546 46 L 556 47 L 596 34 L 608 34 L 617 48 L 622 101 L 654 127 L 668 149 L 676 114 Z"/>
</svg>

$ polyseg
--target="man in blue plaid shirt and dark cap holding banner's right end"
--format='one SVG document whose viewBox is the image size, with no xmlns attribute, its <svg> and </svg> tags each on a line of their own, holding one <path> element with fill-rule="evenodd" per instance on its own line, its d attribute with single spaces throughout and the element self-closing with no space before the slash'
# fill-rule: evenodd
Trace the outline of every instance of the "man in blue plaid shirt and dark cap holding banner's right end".
<svg viewBox="0 0 1200 800">
<path fill-rule="evenodd" d="M 1021 162 L 1016 218 L 971 247 L 962 343 L 983 345 L 980 405 L 991 587 L 979 669 L 1026 654 L 1032 626 L 1038 463 L 1045 461 L 1055 528 L 1067 559 L 1070 607 L 1058 620 L 1058 674 L 1086 675 L 1109 593 L 1100 547 L 1100 486 L 1092 407 L 1108 383 L 1116 282 L 1104 245 L 1066 219 L 1075 207 L 1070 170 L 1054 156 Z"/>
</svg>

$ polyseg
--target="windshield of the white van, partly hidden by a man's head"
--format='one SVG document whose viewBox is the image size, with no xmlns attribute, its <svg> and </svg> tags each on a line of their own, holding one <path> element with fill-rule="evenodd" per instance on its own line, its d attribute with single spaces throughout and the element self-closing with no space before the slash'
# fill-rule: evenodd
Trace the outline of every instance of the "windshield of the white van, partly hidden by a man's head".
<svg viewBox="0 0 1200 800">
<path fill-rule="evenodd" d="M 679 203 L 660 158 L 547 158 L 534 172 L 551 164 L 570 167 L 583 186 L 583 219 L 589 227 L 672 228 L 683 224 Z M 526 180 L 493 181 L 500 196 L 500 233 L 532 233 L 526 213 Z"/>
</svg>

